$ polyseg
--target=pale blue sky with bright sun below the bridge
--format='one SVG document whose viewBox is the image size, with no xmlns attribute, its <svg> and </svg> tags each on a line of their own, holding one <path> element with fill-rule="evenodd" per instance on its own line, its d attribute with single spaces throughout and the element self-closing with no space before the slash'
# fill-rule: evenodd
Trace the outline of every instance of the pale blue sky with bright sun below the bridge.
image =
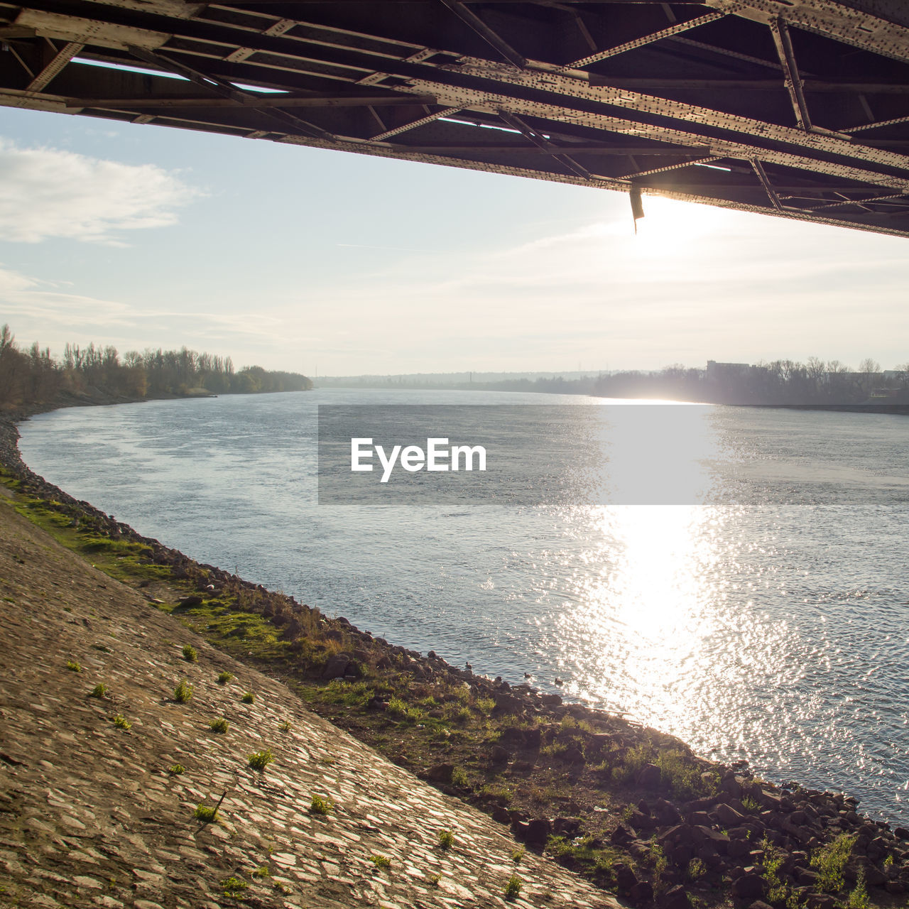
<svg viewBox="0 0 909 909">
<path fill-rule="evenodd" d="M 306 375 L 909 360 L 909 240 L 0 108 L 0 323 Z"/>
</svg>

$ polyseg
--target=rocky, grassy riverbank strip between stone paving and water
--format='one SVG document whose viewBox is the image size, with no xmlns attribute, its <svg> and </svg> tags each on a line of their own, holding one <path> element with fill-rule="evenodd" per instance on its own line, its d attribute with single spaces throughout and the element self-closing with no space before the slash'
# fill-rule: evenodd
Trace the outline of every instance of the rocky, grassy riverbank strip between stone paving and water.
<svg viewBox="0 0 909 909">
<path fill-rule="evenodd" d="M 670 736 L 327 620 L 75 502 L 21 464 L 15 427 L 0 448 L 20 510 L 65 545 L 598 885 L 638 904 L 655 896 L 683 905 L 690 894 L 706 904 L 763 897 L 832 905 L 862 873 L 877 888 L 875 902 L 909 884 L 904 839 L 858 815 L 854 800 L 764 784 L 743 765 L 710 764 Z M 825 844 L 842 846 L 844 837 L 842 870 L 852 883 L 821 894 L 812 875 L 821 874 Z"/>
</svg>

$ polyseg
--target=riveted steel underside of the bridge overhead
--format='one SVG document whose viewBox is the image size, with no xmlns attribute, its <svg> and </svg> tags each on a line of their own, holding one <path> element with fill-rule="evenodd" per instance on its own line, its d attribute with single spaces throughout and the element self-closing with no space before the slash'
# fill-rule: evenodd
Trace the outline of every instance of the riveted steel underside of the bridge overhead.
<svg viewBox="0 0 909 909">
<path fill-rule="evenodd" d="M 904 0 L 0 0 L 0 104 L 909 236 Z"/>
</svg>

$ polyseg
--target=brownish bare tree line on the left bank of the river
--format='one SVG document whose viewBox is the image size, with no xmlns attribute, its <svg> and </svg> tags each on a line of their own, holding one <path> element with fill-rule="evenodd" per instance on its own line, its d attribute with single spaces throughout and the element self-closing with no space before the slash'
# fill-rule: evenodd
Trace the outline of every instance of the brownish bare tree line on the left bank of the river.
<svg viewBox="0 0 909 909">
<path fill-rule="evenodd" d="M 179 395 L 248 395 L 305 391 L 305 375 L 245 366 L 235 371 L 229 356 L 195 350 L 131 350 L 119 355 L 107 345 L 67 344 L 63 357 L 35 342 L 27 350 L 15 343 L 9 325 L 0 328 L 0 406 L 47 405 L 67 397 L 144 400 Z"/>
</svg>

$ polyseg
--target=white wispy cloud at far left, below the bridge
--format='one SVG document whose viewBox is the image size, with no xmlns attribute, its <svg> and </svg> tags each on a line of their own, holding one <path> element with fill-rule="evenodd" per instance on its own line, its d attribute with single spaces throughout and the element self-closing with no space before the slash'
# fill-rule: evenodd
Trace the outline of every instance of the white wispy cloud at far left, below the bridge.
<svg viewBox="0 0 909 909">
<path fill-rule="evenodd" d="M 176 223 L 200 192 L 156 165 L 127 165 L 0 137 L 0 240 L 125 245 L 125 231 Z"/>
</svg>

